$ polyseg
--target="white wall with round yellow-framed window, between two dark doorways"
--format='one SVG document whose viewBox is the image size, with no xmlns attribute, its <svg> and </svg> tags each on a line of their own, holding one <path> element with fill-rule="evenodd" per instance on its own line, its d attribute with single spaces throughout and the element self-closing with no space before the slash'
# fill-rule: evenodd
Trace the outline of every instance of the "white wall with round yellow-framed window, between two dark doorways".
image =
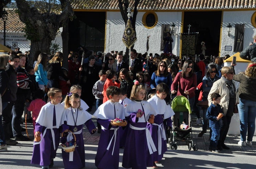
<svg viewBox="0 0 256 169">
<path fill-rule="evenodd" d="M 132 13 L 133 14 L 133 13 Z M 142 17 L 145 12 L 139 12 L 136 18 L 136 33 L 137 42 L 134 49 L 139 53 L 146 52 L 147 36 L 149 38 L 149 53 L 162 53 L 160 51 L 161 45 L 161 25 L 172 24 L 174 22 L 175 30 L 172 43 L 173 53 L 179 55 L 180 48 L 180 27 L 181 27 L 181 12 L 156 12 L 158 16 L 158 23 L 152 29 L 147 29 L 142 24 Z M 122 36 L 125 29 L 124 21 L 120 12 L 107 12 L 107 26 L 106 26 L 106 52 L 112 50 L 125 51 L 125 45 L 122 42 Z"/>
</svg>

